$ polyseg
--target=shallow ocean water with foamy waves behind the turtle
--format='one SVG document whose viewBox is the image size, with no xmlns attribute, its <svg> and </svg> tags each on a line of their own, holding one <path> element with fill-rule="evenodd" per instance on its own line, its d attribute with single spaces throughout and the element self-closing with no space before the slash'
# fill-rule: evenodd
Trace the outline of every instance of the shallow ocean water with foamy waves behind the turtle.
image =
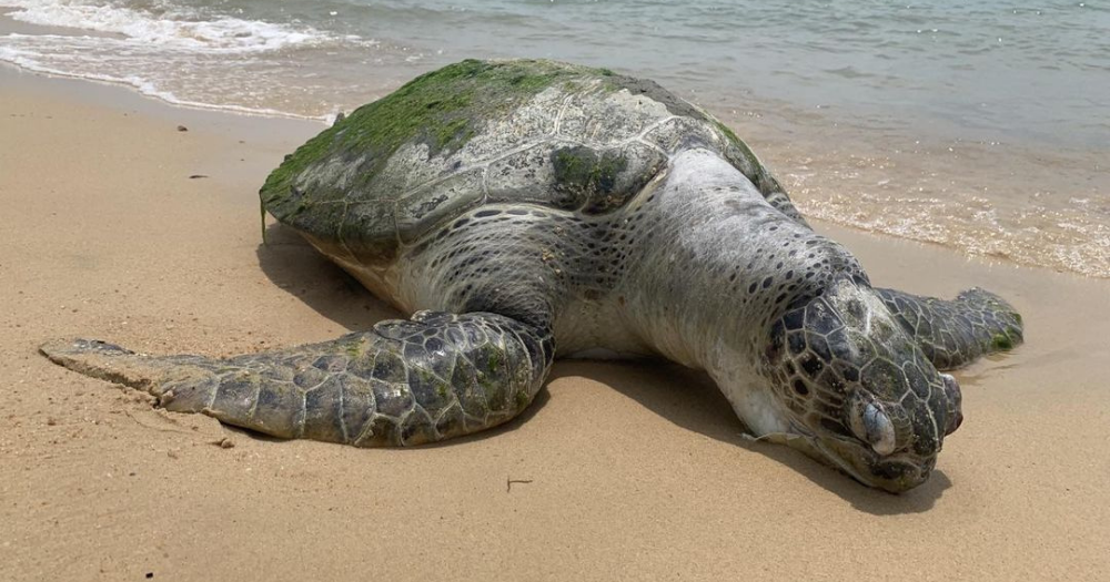
<svg viewBox="0 0 1110 582">
<path fill-rule="evenodd" d="M 1110 3 L 0 0 L 0 62 L 326 120 L 465 58 L 648 76 L 809 216 L 1110 277 Z"/>
</svg>

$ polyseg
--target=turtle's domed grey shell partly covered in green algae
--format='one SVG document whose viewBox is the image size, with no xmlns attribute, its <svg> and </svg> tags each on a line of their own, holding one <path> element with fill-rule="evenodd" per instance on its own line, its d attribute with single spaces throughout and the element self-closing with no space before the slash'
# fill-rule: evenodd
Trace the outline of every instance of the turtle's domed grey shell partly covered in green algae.
<svg viewBox="0 0 1110 582">
<path fill-rule="evenodd" d="M 306 143 L 260 194 L 330 254 L 387 264 L 401 245 L 485 204 L 612 212 L 692 146 L 722 153 L 801 221 L 750 150 L 705 112 L 652 81 L 552 61 L 464 61 L 425 74 Z"/>
</svg>

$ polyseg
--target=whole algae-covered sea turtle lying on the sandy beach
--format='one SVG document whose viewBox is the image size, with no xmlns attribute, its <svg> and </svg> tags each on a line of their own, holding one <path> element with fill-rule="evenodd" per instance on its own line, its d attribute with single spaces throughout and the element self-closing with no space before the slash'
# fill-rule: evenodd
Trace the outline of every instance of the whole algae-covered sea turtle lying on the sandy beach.
<svg viewBox="0 0 1110 582">
<path fill-rule="evenodd" d="M 662 356 L 708 372 L 754 436 L 897 492 L 961 421 L 937 370 L 1022 338 L 985 290 L 871 287 L 728 127 L 606 69 L 430 72 L 286 156 L 261 200 L 412 318 L 229 359 L 43 354 L 168 410 L 360 447 L 501 425 L 556 356 Z"/>
</svg>

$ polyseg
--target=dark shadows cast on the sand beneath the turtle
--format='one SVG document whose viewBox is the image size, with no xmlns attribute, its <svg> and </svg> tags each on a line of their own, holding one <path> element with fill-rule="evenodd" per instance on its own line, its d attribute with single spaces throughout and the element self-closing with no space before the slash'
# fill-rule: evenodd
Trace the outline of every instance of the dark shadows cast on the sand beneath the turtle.
<svg viewBox="0 0 1110 582">
<path fill-rule="evenodd" d="M 259 246 L 258 257 L 270 280 L 346 329 L 370 329 L 381 319 L 401 317 L 290 228 L 276 224 L 269 226 L 266 244 Z M 765 455 L 867 513 L 887 515 L 927 511 L 951 487 L 948 477 L 935 470 L 924 486 L 894 496 L 861 486 L 786 447 L 747 440 L 741 436 L 744 425 L 713 381 L 705 374 L 677 365 L 575 360 L 556 364 L 548 381 L 569 376 L 584 376 L 610 386 L 687 430 Z M 659 381 L 660 378 L 663 381 Z M 547 390 L 542 390 L 528 410 L 513 421 L 466 437 L 466 440 L 493 438 L 514 430 L 535 416 L 548 399 Z M 451 442 L 434 446 L 451 446 Z"/>
</svg>

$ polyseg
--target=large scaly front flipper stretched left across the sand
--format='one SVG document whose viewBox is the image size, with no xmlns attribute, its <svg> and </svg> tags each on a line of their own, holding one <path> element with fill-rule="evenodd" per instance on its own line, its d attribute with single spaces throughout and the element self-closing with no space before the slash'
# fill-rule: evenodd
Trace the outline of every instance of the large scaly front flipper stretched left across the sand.
<svg viewBox="0 0 1110 582">
<path fill-rule="evenodd" d="M 532 402 L 555 353 L 547 329 L 433 312 L 229 359 L 153 357 L 84 339 L 40 349 L 72 370 L 148 391 L 167 410 L 356 447 L 421 445 L 501 425 Z"/>
</svg>

